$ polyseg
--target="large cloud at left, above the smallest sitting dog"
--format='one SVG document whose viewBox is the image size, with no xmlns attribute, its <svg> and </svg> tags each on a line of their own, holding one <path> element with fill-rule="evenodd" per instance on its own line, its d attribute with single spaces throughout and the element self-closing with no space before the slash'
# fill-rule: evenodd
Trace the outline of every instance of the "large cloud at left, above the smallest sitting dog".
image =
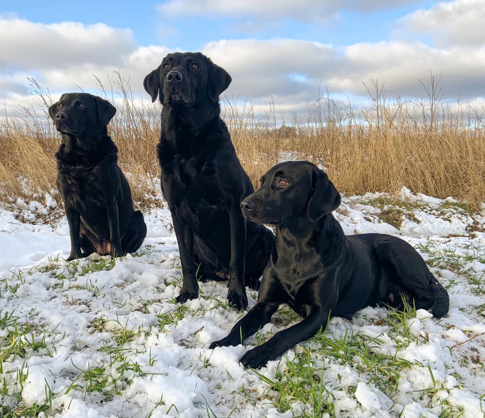
<svg viewBox="0 0 485 418">
<path fill-rule="evenodd" d="M 31 91 L 28 78 L 58 93 L 98 88 L 96 76 L 109 89 L 115 71 L 140 91 L 143 77 L 169 52 L 163 46 L 136 46 L 131 30 L 101 23 L 40 24 L 3 18 L 0 38 L 0 101 Z"/>
</svg>

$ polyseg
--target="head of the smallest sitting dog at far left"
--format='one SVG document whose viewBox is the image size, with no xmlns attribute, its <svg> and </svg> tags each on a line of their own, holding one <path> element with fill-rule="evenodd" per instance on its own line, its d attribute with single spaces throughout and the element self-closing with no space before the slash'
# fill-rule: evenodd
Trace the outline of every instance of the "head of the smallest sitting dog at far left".
<svg viewBox="0 0 485 418">
<path fill-rule="evenodd" d="M 85 150 L 92 148 L 115 113 L 108 100 L 88 93 L 64 93 L 49 108 L 56 129 L 76 138 L 77 145 Z"/>
</svg>

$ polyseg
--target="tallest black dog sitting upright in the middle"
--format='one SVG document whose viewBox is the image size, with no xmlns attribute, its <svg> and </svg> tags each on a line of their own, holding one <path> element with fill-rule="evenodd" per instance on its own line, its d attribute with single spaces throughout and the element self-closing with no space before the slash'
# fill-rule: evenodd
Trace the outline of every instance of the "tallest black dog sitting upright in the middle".
<svg viewBox="0 0 485 418">
<path fill-rule="evenodd" d="M 228 278 L 227 299 L 245 309 L 244 286 L 259 287 L 274 236 L 246 222 L 240 210 L 254 189 L 219 116 L 219 94 L 230 82 L 204 55 L 175 53 L 143 85 L 152 101 L 159 96 L 163 103 L 158 158 L 182 263 L 177 301 L 198 296 L 198 271 L 203 279 Z"/>
</svg>

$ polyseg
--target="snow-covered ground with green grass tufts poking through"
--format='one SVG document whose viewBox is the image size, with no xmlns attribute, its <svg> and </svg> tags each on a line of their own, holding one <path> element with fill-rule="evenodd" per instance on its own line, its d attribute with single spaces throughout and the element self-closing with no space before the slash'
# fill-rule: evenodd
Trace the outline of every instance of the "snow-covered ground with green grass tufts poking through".
<svg viewBox="0 0 485 418">
<path fill-rule="evenodd" d="M 19 199 L 0 214 L 0 415 L 483 416 L 485 212 L 406 189 L 398 197 L 347 197 L 335 215 L 347 234 L 414 245 L 447 287 L 449 315 L 367 307 L 258 373 L 238 358 L 299 319 L 283 306 L 245 345 L 209 350 L 243 314 L 227 306 L 224 283 L 175 303 L 168 208 L 144 214 L 136 254 L 68 263 L 65 218 L 46 222 L 60 209 Z"/>
</svg>

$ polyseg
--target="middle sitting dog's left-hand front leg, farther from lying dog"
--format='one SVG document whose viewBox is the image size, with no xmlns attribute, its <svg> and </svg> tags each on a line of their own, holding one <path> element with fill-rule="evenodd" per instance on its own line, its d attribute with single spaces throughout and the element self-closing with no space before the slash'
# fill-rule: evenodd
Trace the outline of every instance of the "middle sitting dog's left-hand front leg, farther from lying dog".
<svg viewBox="0 0 485 418">
<path fill-rule="evenodd" d="M 177 303 L 183 303 L 199 296 L 199 284 L 196 280 L 196 269 L 193 259 L 193 231 L 187 223 L 181 221 L 173 212 L 172 222 L 175 236 L 177 237 L 183 276 L 182 290 L 176 301 Z"/>
</svg>

